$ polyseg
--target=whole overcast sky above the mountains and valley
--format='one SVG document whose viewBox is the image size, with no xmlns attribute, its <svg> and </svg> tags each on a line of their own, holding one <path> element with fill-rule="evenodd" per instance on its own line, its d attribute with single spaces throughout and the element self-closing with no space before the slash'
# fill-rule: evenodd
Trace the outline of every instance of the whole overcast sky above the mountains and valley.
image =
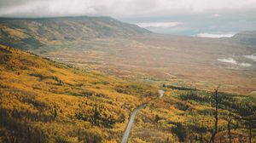
<svg viewBox="0 0 256 143">
<path fill-rule="evenodd" d="M 256 0 L 0 0 L 1 17 L 111 16 L 150 31 L 231 37 L 256 30 Z"/>
</svg>

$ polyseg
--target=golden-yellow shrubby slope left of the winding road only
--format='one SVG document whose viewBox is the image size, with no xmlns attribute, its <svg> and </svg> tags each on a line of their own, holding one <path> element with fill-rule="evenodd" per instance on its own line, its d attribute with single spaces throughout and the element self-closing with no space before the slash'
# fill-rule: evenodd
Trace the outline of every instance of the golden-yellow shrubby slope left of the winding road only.
<svg viewBox="0 0 256 143">
<path fill-rule="evenodd" d="M 140 95 L 157 91 L 3 45 L 0 59 L 1 136 L 10 142 L 28 134 L 39 142 L 119 140 L 131 110 L 149 98 Z"/>
</svg>

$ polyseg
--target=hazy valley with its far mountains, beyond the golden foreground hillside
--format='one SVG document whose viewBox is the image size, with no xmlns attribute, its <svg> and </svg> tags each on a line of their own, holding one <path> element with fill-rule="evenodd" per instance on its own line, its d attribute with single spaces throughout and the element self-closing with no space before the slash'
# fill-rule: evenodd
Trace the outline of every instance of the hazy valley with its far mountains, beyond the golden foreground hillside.
<svg viewBox="0 0 256 143">
<path fill-rule="evenodd" d="M 253 32 L 217 39 L 170 36 L 109 17 L 2 19 L 0 24 L 0 43 L 84 70 L 199 89 L 222 84 L 237 94 L 256 90 L 255 60 L 246 58 L 256 53 L 255 45 L 247 44 Z"/>
</svg>

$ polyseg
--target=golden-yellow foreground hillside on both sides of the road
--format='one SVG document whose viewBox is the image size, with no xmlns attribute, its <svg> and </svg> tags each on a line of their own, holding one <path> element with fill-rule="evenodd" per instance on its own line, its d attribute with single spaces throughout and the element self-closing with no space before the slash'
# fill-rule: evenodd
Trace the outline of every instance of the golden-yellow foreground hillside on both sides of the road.
<svg viewBox="0 0 256 143">
<path fill-rule="evenodd" d="M 208 142 L 214 126 L 211 91 L 81 71 L 3 45 L 0 79 L 0 142 L 120 142 L 131 111 L 143 103 L 131 142 Z M 158 89 L 164 97 L 156 98 Z M 242 118 L 255 116 L 255 97 L 219 96 L 216 140 L 227 142 L 232 115 L 232 140 L 246 142 L 253 123 Z"/>
</svg>

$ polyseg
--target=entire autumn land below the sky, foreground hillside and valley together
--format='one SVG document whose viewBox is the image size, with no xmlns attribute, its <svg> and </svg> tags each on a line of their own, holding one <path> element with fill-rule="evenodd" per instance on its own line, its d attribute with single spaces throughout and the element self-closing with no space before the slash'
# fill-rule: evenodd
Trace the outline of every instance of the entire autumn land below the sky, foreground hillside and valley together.
<svg viewBox="0 0 256 143">
<path fill-rule="evenodd" d="M 185 37 L 111 17 L 1 18 L 0 142 L 255 141 L 253 33 Z"/>
</svg>

